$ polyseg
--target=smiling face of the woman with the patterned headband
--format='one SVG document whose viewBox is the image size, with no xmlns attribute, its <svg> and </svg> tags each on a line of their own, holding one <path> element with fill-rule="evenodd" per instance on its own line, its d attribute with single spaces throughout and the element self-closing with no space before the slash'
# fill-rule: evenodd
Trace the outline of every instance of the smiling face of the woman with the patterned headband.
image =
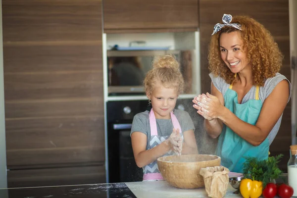
<svg viewBox="0 0 297 198">
<path fill-rule="evenodd" d="M 220 37 L 221 58 L 232 73 L 238 73 L 244 69 L 250 69 L 250 61 L 243 50 L 243 41 L 238 31 L 222 33 Z"/>
</svg>

